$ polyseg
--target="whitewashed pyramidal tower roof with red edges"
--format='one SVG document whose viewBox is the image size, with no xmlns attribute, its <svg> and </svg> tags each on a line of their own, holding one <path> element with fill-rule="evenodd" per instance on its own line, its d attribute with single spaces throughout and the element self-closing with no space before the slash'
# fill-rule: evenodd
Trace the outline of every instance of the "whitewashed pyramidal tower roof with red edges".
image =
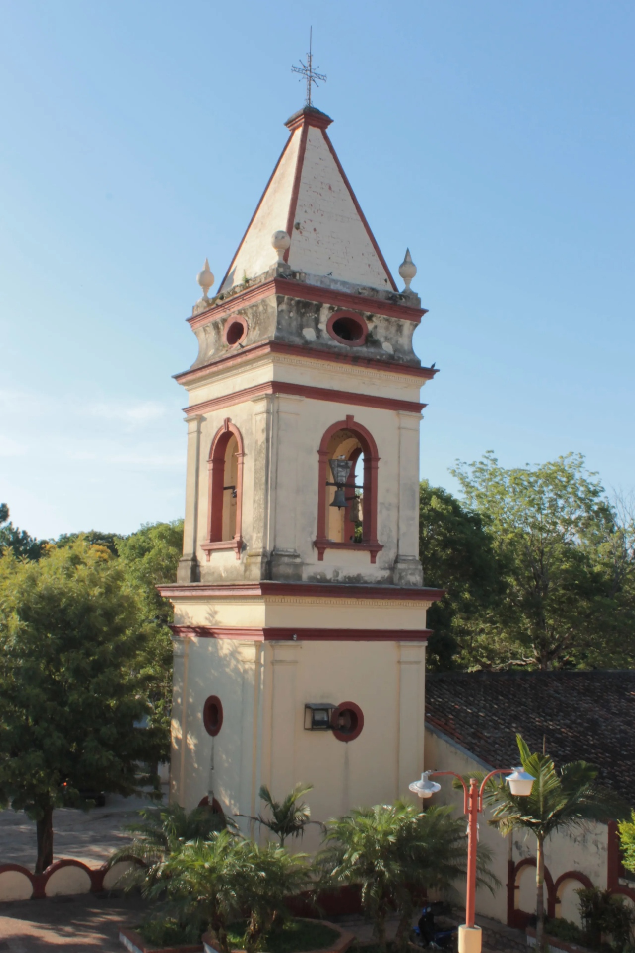
<svg viewBox="0 0 635 953">
<path fill-rule="evenodd" d="M 286 122 L 290 135 L 220 285 L 227 292 L 275 266 L 274 232 L 291 239 L 288 268 L 397 291 L 346 173 L 327 135 L 332 120 L 305 106 Z"/>
</svg>

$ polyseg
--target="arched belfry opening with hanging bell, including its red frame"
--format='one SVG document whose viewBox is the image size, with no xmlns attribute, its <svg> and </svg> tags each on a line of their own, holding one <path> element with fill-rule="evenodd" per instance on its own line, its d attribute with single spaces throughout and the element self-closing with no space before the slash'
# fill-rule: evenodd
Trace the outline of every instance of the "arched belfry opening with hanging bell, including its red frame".
<svg viewBox="0 0 635 953">
<path fill-rule="evenodd" d="M 327 486 L 333 482 L 328 461 L 338 456 L 352 462 L 345 489 L 348 507 L 343 510 L 330 505 L 335 488 Z M 324 559 L 327 549 L 344 549 L 367 551 L 375 562 L 384 548 L 377 539 L 379 459 L 374 437 L 354 416 L 338 420 L 325 432 L 318 450 L 317 537 L 313 542 L 318 560 Z M 356 485 L 361 491 L 355 490 Z"/>
</svg>

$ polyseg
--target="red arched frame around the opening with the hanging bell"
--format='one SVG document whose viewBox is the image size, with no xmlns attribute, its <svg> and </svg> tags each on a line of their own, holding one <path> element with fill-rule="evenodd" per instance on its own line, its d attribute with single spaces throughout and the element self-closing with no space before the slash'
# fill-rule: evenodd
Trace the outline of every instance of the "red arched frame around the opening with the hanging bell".
<svg viewBox="0 0 635 953">
<path fill-rule="evenodd" d="M 338 430 L 349 430 L 351 434 L 354 434 L 362 444 L 364 451 L 364 528 L 361 543 L 333 542 L 327 537 L 327 499 L 325 494 L 328 479 L 327 447 L 331 436 L 336 434 Z M 346 420 L 338 420 L 337 423 L 331 424 L 325 431 L 318 449 L 317 537 L 313 542 L 318 551 L 318 560 L 324 559 L 327 549 L 356 549 L 367 550 L 370 553 L 370 561 L 374 562 L 377 554 L 384 548 L 377 540 L 377 472 L 379 460 L 380 456 L 375 438 L 363 424 L 355 422 L 352 414 L 347 415 Z"/>
</svg>

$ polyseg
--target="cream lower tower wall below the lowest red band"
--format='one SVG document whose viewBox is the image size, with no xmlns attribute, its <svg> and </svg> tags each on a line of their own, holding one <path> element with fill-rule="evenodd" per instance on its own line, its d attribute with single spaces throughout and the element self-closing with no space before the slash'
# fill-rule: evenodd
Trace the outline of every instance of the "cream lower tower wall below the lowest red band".
<svg viewBox="0 0 635 953">
<path fill-rule="evenodd" d="M 424 643 L 187 641 L 185 788 L 177 705 L 172 799 L 188 809 L 213 792 L 229 815 L 253 814 L 261 807 L 261 783 L 281 798 L 297 781 L 308 781 L 314 785 L 312 817 L 326 821 L 353 806 L 407 796 L 408 783 L 421 774 Z M 175 666 L 177 697 L 183 671 Z M 217 695 L 224 709 L 215 739 L 202 718 L 209 695 Z M 346 743 L 330 731 L 306 731 L 308 701 L 354 701 L 364 712 L 361 735 Z M 248 823 L 242 824 L 247 833 Z M 318 828 L 311 828 L 305 849 L 316 849 L 319 840 Z"/>
</svg>

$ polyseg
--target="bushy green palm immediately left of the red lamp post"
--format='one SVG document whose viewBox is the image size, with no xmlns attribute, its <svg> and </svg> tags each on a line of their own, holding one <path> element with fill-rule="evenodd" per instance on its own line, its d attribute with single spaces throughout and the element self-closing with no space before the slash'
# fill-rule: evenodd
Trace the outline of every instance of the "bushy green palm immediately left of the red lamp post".
<svg viewBox="0 0 635 953">
<path fill-rule="evenodd" d="M 386 920 L 399 915 L 395 937 L 403 948 L 410 933 L 415 899 L 430 888 L 449 890 L 466 874 L 465 822 L 450 817 L 450 806 L 428 807 L 396 801 L 358 808 L 327 824 L 326 847 L 316 863 L 325 886 L 359 884 L 362 906 L 375 923 L 382 950 L 387 947 Z M 480 853 L 481 882 L 496 883 L 486 871 L 489 855 Z"/>
</svg>

